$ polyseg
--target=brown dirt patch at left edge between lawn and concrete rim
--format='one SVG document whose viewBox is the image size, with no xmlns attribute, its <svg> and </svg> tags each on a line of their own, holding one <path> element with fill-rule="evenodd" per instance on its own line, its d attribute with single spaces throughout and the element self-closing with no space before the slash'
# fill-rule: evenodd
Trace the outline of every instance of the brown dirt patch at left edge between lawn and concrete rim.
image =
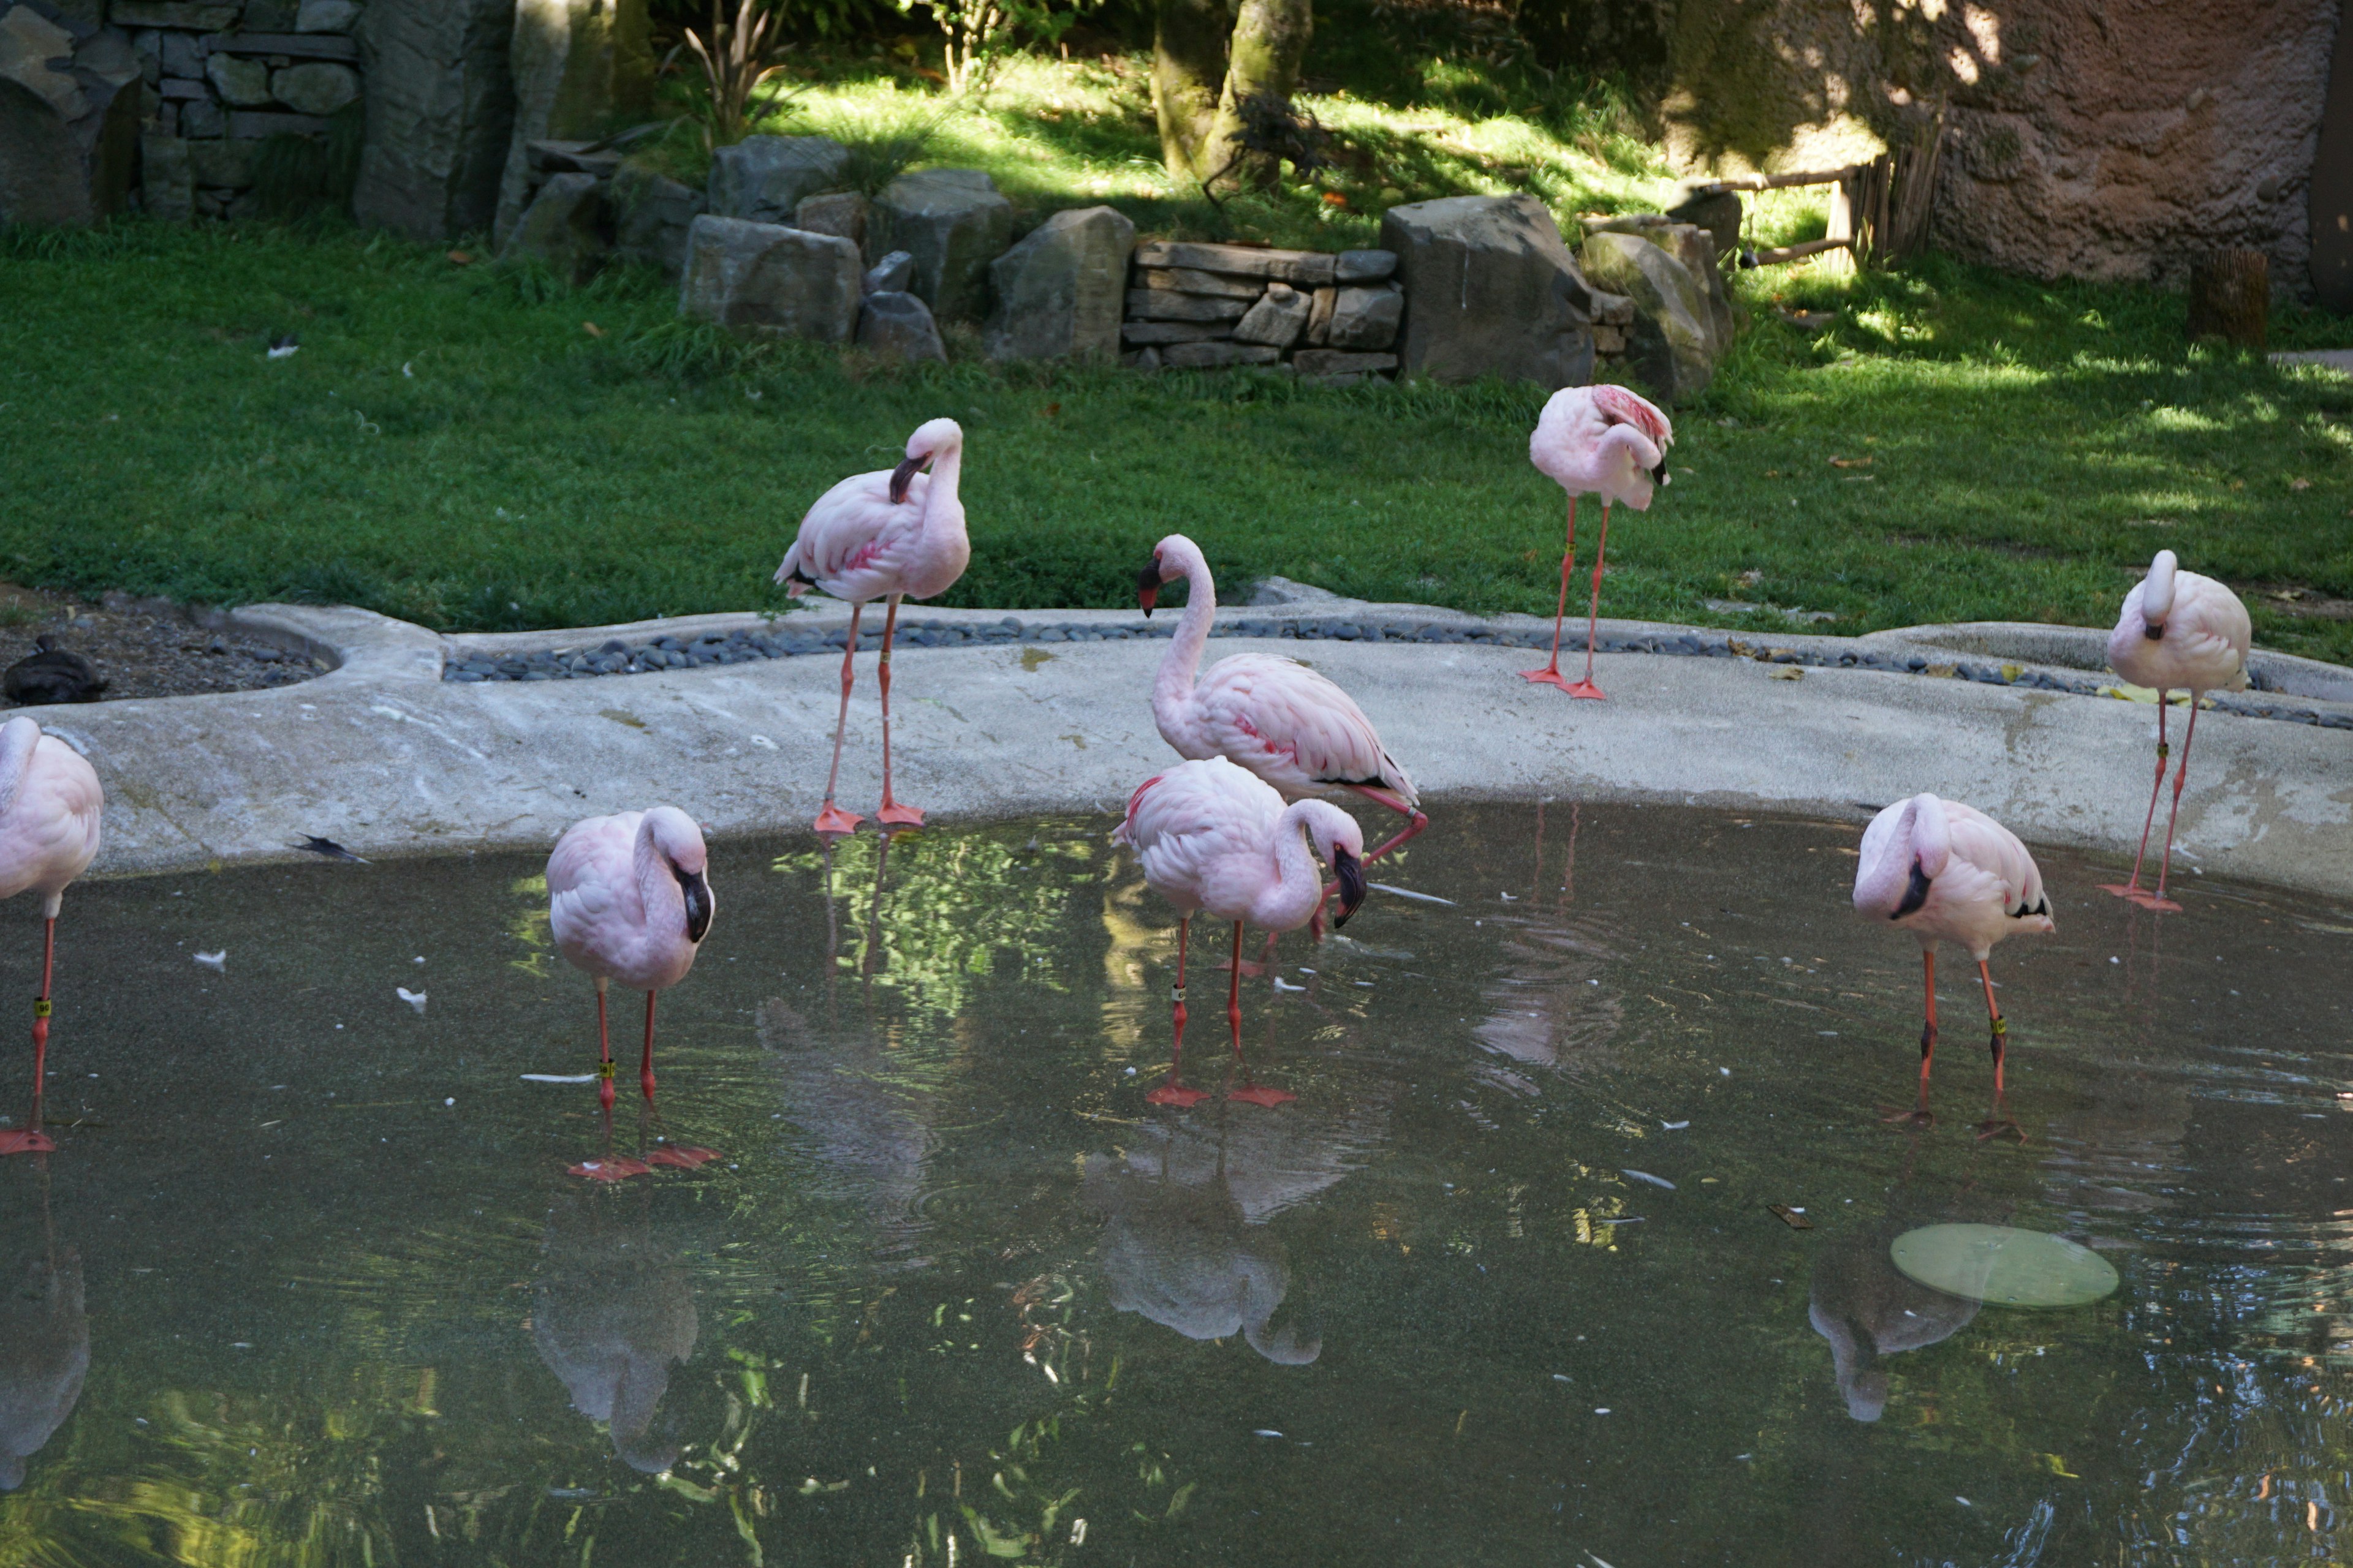
<svg viewBox="0 0 2353 1568">
<path fill-rule="evenodd" d="M 73 595 L 0 583 L 0 668 L 33 654 L 35 637 L 96 665 L 101 703 L 136 696 L 261 691 L 327 672 L 311 656 L 242 632 L 214 632 L 176 609 L 125 595 L 89 604 Z M 0 696 L 0 708 L 14 708 Z"/>
</svg>

